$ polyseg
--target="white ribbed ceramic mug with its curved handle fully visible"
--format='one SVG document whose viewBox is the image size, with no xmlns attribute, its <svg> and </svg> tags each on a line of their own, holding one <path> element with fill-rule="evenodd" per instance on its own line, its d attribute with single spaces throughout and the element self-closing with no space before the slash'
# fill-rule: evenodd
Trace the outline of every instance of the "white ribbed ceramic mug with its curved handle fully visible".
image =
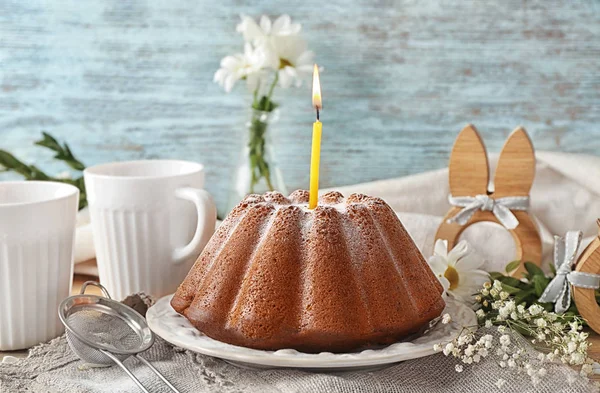
<svg viewBox="0 0 600 393">
<path fill-rule="evenodd" d="M 175 292 L 215 230 L 201 164 L 145 160 L 84 171 L 100 282 L 116 299 Z"/>
</svg>

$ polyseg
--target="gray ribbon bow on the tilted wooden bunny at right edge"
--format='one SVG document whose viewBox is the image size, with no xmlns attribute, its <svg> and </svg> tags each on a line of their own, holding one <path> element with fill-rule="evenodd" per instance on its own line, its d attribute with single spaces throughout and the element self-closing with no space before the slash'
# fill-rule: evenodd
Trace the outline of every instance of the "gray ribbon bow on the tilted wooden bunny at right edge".
<svg viewBox="0 0 600 393">
<path fill-rule="evenodd" d="M 574 272 L 573 266 L 577 261 L 577 250 L 581 244 L 581 231 L 570 231 L 564 237 L 554 237 L 554 267 L 556 276 L 550 281 L 539 301 L 555 303 L 554 311 L 564 313 L 571 306 L 571 288 L 575 287 L 597 289 L 600 287 L 600 275 Z"/>
</svg>

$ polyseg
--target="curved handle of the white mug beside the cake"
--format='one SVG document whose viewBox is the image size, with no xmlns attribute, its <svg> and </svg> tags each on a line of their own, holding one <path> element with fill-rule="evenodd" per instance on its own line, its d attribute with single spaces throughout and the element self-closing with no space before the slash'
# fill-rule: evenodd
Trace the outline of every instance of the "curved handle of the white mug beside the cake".
<svg viewBox="0 0 600 393">
<path fill-rule="evenodd" d="M 198 226 L 194 237 L 188 244 L 173 251 L 173 261 L 179 264 L 192 255 L 199 253 L 208 243 L 215 231 L 217 208 L 210 194 L 199 188 L 179 188 L 175 190 L 175 196 L 193 202 L 198 212 Z"/>
</svg>

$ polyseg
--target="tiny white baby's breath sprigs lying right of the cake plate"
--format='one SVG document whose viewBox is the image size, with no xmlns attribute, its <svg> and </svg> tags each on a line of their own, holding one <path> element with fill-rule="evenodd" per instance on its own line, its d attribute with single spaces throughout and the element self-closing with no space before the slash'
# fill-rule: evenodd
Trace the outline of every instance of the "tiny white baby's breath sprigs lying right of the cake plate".
<svg viewBox="0 0 600 393">
<path fill-rule="evenodd" d="M 580 317 L 546 311 L 539 304 L 517 305 L 514 298 L 502 290 L 499 281 L 484 285 L 479 293 L 477 302 L 483 306 L 476 311 L 479 325 L 496 329 L 499 338 L 480 333 L 485 331 L 464 328 L 452 342 L 434 346 L 436 351 L 441 350 L 444 355 L 460 361 L 456 371 L 461 372 L 466 367 L 463 365 L 479 363 L 492 355 L 500 367 L 526 372 L 534 385 L 548 374 L 542 367 L 545 362 L 560 361 L 581 366 L 580 375 L 585 377 L 594 372 L 593 361 L 587 354 L 588 333 L 581 331 Z M 531 352 L 528 346 L 523 347 L 525 341 L 520 338 L 523 333 L 532 344 L 548 348 L 549 353 Z M 577 376 L 577 373 L 573 374 Z M 503 386 L 506 381 L 502 381 L 499 380 L 497 386 Z"/>
</svg>

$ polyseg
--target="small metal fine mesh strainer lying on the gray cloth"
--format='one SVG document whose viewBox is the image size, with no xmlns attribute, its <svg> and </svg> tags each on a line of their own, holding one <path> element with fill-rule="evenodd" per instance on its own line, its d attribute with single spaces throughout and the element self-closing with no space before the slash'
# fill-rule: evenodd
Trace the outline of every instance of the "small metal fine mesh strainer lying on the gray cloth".
<svg viewBox="0 0 600 393">
<path fill-rule="evenodd" d="M 88 285 L 99 287 L 104 297 L 86 295 Z M 68 297 L 60 304 L 58 315 L 65 325 L 69 346 L 86 363 L 93 366 L 116 363 L 142 391 L 149 393 L 123 364 L 125 359 L 135 356 L 172 391 L 179 393 L 154 366 L 138 355 L 154 343 L 154 335 L 144 317 L 131 307 L 112 300 L 99 283 L 85 282 L 79 295 Z"/>
</svg>

